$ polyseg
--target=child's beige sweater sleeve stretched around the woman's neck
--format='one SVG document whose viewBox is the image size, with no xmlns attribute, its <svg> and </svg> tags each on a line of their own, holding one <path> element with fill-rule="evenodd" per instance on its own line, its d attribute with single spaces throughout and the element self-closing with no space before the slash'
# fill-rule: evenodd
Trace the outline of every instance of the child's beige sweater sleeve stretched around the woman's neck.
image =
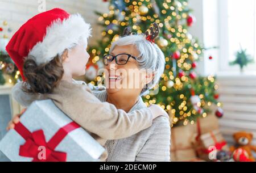
<svg viewBox="0 0 256 173">
<path fill-rule="evenodd" d="M 67 91 L 69 92 L 69 91 Z M 113 104 L 100 102 L 82 86 L 63 93 L 59 106 L 84 129 L 105 140 L 126 138 L 152 125 L 152 112 L 148 108 L 126 113 Z"/>
</svg>

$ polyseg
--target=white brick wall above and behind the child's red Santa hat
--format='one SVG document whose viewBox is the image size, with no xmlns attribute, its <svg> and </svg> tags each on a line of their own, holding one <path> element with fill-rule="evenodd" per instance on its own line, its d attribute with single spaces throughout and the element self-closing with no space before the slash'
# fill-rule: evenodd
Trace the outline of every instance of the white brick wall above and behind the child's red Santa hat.
<svg viewBox="0 0 256 173">
<path fill-rule="evenodd" d="M 24 22 L 39 13 L 39 2 L 37 0 L 0 0 L 0 27 L 3 21 L 7 21 L 8 27 L 13 29 L 13 32 L 7 33 L 11 37 Z M 102 0 L 46 0 L 46 10 L 59 7 L 71 14 L 79 12 L 86 22 L 92 24 L 93 38 L 90 42 L 95 43 L 100 36 L 98 33 L 101 28 L 96 27 L 98 16 L 94 11 L 108 12 L 108 4 Z"/>
</svg>

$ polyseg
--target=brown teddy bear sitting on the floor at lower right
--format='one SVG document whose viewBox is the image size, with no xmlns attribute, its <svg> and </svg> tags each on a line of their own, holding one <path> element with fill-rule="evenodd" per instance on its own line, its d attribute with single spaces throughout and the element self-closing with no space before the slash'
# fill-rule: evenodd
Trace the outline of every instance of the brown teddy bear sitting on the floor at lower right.
<svg viewBox="0 0 256 173">
<path fill-rule="evenodd" d="M 256 146 L 251 145 L 251 140 L 253 139 L 252 133 L 247 132 L 237 132 L 233 134 L 234 141 L 236 141 L 235 146 L 230 146 L 230 151 L 233 153 L 236 149 L 244 149 L 249 155 L 250 161 L 255 161 L 251 150 L 256 152 Z"/>
</svg>

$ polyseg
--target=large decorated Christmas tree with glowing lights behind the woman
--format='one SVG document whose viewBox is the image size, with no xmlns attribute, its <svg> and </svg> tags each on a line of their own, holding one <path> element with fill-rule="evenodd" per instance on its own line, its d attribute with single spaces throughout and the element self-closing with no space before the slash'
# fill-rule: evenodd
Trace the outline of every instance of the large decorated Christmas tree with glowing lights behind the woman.
<svg viewBox="0 0 256 173">
<path fill-rule="evenodd" d="M 160 79 L 157 95 L 151 92 L 144 102 L 159 104 L 169 112 L 173 124 L 193 124 L 200 116 L 206 117 L 210 106 L 219 107 L 216 116 L 222 116 L 221 104 L 217 102 L 218 86 L 214 77 L 198 77 L 195 72 L 197 61 L 203 57 L 204 48 L 192 37 L 188 29 L 195 22 L 187 0 L 113 0 L 109 1 L 109 12 L 101 14 L 99 24 L 104 27 L 102 39 L 90 48 L 89 67 L 101 65 L 101 58 L 109 53 L 111 43 L 118 39 L 125 27 L 135 33 L 145 32 L 153 22 L 158 23 L 160 34 L 155 43 L 166 56 L 166 68 Z M 212 57 L 209 57 L 212 58 Z M 90 79 L 94 76 L 90 76 Z M 95 77 L 91 83 L 101 81 Z"/>
</svg>

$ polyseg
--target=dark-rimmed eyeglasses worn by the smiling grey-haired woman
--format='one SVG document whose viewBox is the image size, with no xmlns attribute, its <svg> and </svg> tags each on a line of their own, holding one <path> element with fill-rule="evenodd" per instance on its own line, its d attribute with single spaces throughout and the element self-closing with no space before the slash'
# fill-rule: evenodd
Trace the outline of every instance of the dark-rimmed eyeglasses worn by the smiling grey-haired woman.
<svg viewBox="0 0 256 173">
<path fill-rule="evenodd" d="M 103 60 L 105 65 L 109 65 L 110 62 L 112 62 L 113 60 L 115 60 L 115 63 L 118 65 L 125 65 L 127 64 L 130 58 L 134 58 L 134 60 L 137 59 L 131 54 L 121 53 L 121 54 L 117 54 L 116 56 L 113 56 L 113 54 L 105 54 L 105 56 L 103 57 Z"/>
</svg>

